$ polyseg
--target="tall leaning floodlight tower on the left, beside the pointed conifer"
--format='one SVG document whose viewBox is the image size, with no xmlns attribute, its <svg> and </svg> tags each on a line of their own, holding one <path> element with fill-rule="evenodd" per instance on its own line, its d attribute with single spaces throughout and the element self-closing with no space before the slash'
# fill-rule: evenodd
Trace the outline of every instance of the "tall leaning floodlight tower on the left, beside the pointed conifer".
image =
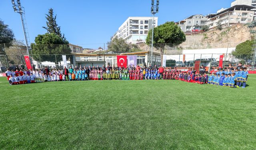
<svg viewBox="0 0 256 150">
<path fill-rule="evenodd" d="M 20 19 L 22 22 L 22 27 L 23 27 L 23 32 L 24 32 L 24 36 L 25 36 L 25 40 L 26 40 L 26 48 L 27 48 L 27 53 L 29 56 L 29 51 L 28 51 L 28 46 L 29 46 L 29 37 L 28 37 L 28 32 L 27 32 L 27 28 L 25 27 L 26 22 L 24 20 L 25 18 L 25 10 L 24 7 L 22 7 L 20 5 L 20 0 L 16 0 L 17 4 L 14 2 L 14 0 L 12 0 L 12 7 L 14 9 L 14 12 L 17 12 L 20 14 Z"/>
</svg>

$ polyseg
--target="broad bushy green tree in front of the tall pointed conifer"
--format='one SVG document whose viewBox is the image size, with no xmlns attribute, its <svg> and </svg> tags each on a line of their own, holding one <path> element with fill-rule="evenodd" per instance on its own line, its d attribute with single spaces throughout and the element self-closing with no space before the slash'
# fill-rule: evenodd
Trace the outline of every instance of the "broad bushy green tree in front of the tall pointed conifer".
<svg viewBox="0 0 256 150">
<path fill-rule="evenodd" d="M 31 44 L 31 48 L 33 59 L 37 62 L 49 61 L 58 64 L 62 60 L 62 54 L 71 54 L 68 41 L 63 41 L 60 36 L 54 33 L 38 35 L 35 43 Z"/>
</svg>

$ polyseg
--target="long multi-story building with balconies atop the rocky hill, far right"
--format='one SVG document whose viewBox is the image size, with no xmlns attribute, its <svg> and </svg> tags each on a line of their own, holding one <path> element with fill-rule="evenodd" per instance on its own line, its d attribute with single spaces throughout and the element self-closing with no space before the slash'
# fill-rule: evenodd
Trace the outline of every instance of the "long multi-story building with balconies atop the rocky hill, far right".
<svg viewBox="0 0 256 150">
<path fill-rule="evenodd" d="M 218 26 L 222 27 L 232 26 L 234 24 L 246 24 L 252 22 L 254 11 L 253 6 L 235 5 L 216 14 L 208 14 L 208 20 L 202 25 L 208 25 L 211 28 Z"/>
</svg>

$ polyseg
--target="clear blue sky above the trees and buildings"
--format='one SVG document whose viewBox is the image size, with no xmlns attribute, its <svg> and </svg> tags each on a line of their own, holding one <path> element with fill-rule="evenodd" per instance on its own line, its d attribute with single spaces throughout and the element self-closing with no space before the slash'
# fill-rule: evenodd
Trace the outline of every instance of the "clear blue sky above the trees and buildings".
<svg viewBox="0 0 256 150">
<path fill-rule="evenodd" d="M 16 1 L 16 0 L 15 0 Z M 151 16 L 151 0 L 20 0 L 25 7 L 30 42 L 46 33 L 45 14 L 57 14 L 62 33 L 72 44 L 83 48 L 103 47 L 129 16 Z M 229 8 L 234 0 L 160 0 L 158 24 L 179 21 L 193 14 L 215 13 Z M 9 25 L 17 40 L 24 40 L 20 15 L 11 0 L 0 0 L 0 18 Z"/>
</svg>

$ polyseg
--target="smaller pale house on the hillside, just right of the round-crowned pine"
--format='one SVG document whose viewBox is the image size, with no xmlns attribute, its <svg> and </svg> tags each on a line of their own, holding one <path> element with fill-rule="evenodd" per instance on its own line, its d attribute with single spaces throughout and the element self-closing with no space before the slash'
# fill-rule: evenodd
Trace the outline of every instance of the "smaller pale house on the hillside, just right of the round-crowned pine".
<svg viewBox="0 0 256 150">
<path fill-rule="evenodd" d="M 185 20 L 176 22 L 180 26 L 183 32 L 199 31 L 202 28 L 202 24 L 205 24 L 208 18 L 202 14 L 196 14 L 186 18 Z"/>
</svg>

